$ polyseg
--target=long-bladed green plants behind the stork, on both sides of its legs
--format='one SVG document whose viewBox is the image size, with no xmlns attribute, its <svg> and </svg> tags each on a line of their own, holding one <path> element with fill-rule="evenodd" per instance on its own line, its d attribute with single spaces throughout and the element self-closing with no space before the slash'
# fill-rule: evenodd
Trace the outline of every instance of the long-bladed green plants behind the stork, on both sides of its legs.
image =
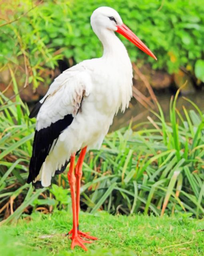
<svg viewBox="0 0 204 256">
<path fill-rule="evenodd" d="M 157 121 L 149 118 L 134 127 L 138 131 L 111 133 L 100 150 L 87 154 L 82 209 L 155 215 L 187 211 L 204 216 L 204 115 L 194 103 L 194 110 L 184 108 L 184 116 L 178 112 L 178 93 L 170 103 L 170 123 L 158 105 Z M 16 100 L 1 94 L 0 218 L 11 214 L 6 223 L 23 212 L 71 206 L 66 173 L 55 177 L 52 189 L 33 191 L 25 184 L 34 124 L 26 105 L 19 97 Z"/>
</svg>

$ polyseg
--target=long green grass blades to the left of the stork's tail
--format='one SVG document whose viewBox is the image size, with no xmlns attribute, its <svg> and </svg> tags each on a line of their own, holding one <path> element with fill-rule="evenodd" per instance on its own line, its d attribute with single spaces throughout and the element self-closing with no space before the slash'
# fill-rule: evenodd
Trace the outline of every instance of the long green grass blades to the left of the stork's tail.
<svg viewBox="0 0 204 256">
<path fill-rule="evenodd" d="M 0 213 L 4 210 L 5 214 L 9 203 L 9 212 L 14 211 L 6 216 L 6 222 L 18 219 L 45 190 L 33 192 L 32 186 L 25 183 L 35 124 L 28 118 L 28 107 L 21 101 L 11 74 L 17 102 L 0 93 Z"/>
</svg>

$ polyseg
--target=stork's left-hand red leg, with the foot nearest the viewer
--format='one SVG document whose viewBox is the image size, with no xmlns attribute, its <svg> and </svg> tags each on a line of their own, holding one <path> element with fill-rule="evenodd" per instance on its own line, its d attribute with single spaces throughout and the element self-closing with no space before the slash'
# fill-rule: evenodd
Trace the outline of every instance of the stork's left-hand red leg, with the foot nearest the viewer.
<svg viewBox="0 0 204 256">
<path fill-rule="evenodd" d="M 70 183 L 70 191 L 71 191 L 71 197 L 72 197 L 72 214 L 73 214 L 73 228 L 72 228 L 72 244 L 71 249 L 73 249 L 76 245 L 82 247 L 85 251 L 87 251 L 86 246 L 84 246 L 85 242 L 80 238 L 78 235 L 77 230 L 77 218 L 76 218 L 76 189 L 75 189 L 75 183 L 76 183 L 76 177 L 74 175 L 74 160 L 75 160 L 75 154 L 73 154 L 70 158 L 70 169 L 68 171 L 68 181 Z"/>
</svg>

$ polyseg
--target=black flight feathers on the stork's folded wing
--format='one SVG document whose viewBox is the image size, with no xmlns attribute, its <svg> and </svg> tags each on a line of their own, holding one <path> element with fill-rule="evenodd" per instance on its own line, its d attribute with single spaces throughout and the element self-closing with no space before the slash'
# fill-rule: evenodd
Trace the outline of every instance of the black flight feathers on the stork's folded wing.
<svg viewBox="0 0 204 256">
<path fill-rule="evenodd" d="M 49 127 L 40 129 L 39 131 L 36 130 L 33 141 L 32 157 L 29 165 L 28 183 L 34 181 L 38 176 L 54 140 L 58 139 L 60 133 L 72 123 L 73 119 L 73 116 L 68 114 L 64 116 L 63 119 L 51 123 Z"/>
</svg>

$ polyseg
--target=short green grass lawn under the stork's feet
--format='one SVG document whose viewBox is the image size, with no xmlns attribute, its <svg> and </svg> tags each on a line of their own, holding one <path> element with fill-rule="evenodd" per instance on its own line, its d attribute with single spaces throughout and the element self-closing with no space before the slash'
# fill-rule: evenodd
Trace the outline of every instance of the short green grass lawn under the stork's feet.
<svg viewBox="0 0 204 256">
<path fill-rule="evenodd" d="M 80 229 L 99 238 L 87 244 L 88 252 L 79 247 L 70 250 L 71 240 L 64 234 L 71 226 L 72 216 L 67 212 L 36 213 L 18 221 L 17 225 L 2 226 L 0 255 L 204 255 L 204 220 L 187 215 L 158 218 L 81 213 Z"/>
</svg>

